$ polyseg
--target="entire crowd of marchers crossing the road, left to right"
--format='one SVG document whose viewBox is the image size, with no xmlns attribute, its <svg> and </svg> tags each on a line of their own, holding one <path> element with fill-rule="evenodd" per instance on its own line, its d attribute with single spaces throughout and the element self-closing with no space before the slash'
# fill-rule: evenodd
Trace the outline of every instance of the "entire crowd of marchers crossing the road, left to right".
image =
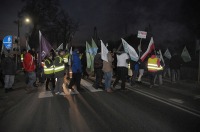
<svg viewBox="0 0 200 132">
<path fill-rule="evenodd" d="M 150 78 L 150 87 L 153 87 L 156 78 L 159 80 L 159 85 L 162 85 L 162 76 L 171 78 L 173 83 L 180 79 L 180 66 L 181 59 L 177 54 L 174 54 L 171 59 L 165 58 L 165 63 L 161 61 L 159 54 L 149 55 L 146 61 L 132 61 L 127 53 L 124 51 L 117 51 L 112 53 L 111 51 L 107 54 L 108 61 L 101 59 L 101 51 L 94 57 L 94 73 L 96 76 L 94 87 L 105 88 L 107 92 L 113 92 L 121 80 L 121 90 L 126 90 L 125 82 L 128 79 L 128 70 L 132 70 L 132 76 L 130 78 L 131 86 L 136 83 L 141 83 L 142 76 L 147 71 Z M 23 50 L 21 55 L 21 62 L 23 71 L 25 73 L 26 90 L 28 93 L 37 90 L 36 80 L 39 82 L 45 82 L 46 90 L 51 90 L 55 94 L 63 93 L 63 82 L 64 78 L 69 78 L 69 72 L 72 71 L 72 78 L 68 85 L 69 89 L 74 89 L 76 85 L 77 90 L 81 90 L 80 82 L 81 77 L 87 76 L 86 56 L 80 56 L 79 50 L 74 49 L 72 55 L 69 52 L 59 50 L 55 52 L 53 49 L 48 55 L 45 56 L 44 60 L 39 63 L 37 54 L 34 49 Z M 130 64 L 130 67 L 129 67 Z M 7 93 L 12 90 L 12 86 L 15 80 L 15 74 L 17 72 L 16 64 L 13 58 L 13 54 L 8 53 L 1 61 L 2 78 L 1 83 Z M 115 80 L 112 83 L 113 75 Z M 103 83 L 102 80 L 105 80 Z M 49 87 L 49 83 L 52 83 L 52 87 Z"/>
</svg>

